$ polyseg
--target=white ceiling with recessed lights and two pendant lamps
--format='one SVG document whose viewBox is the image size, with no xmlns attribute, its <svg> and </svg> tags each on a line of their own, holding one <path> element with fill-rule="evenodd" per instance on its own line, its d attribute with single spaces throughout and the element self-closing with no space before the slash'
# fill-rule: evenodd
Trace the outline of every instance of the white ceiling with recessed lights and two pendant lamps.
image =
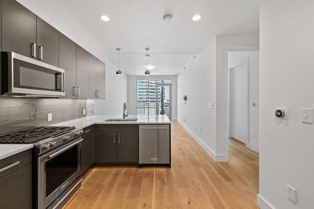
<svg viewBox="0 0 314 209">
<path fill-rule="evenodd" d="M 259 35 L 259 0 L 17 0 L 129 75 L 175 75 L 215 36 Z M 193 22 L 191 17 L 202 19 Z M 101 15 L 111 21 L 104 22 Z M 171 23 L 162 17 L 171 15 Z"/>
</svg>

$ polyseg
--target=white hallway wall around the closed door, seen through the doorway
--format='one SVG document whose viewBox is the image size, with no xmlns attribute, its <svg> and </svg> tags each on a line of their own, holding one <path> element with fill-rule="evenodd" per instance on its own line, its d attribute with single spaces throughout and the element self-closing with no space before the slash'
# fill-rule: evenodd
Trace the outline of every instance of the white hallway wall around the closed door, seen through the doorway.
<svg viewBox="0 0 314 209">
<path fill-rule="evenodd" d="M 259 51 L 229 51 L 228 69 L 243 59 L 248 60 L 248 142 L 246 146 L 259 152 Z M 256 104 L 255 107 L 252 106 L 253 102 Z M 232 113 L 231 106 L 229 105 L 230 114 Z M 231 137 L 232 131 L 230 114 L 229 137 Z M 254 136 L 253 132 L 255 132 Z"/>
</svg>

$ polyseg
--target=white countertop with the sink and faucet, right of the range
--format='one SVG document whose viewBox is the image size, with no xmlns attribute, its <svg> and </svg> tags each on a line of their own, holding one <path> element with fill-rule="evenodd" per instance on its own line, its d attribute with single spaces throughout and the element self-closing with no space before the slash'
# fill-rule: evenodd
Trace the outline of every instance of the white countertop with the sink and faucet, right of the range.
<svg viewBox="0 0 314 209">
<path fill-rule="evenodd" d="M 166 115 L 129 115 L 126 118 L 137 118 L 136 121 L 104 121 L 106 119 L 122 119 L 120 116 L 95 115 L 81 117 L 74 120 L 68 120 L 61 123 L 53 124 L 53 126 L 75 126 L 76 128 L 85 128 L 93 124 L 171 124 Z"/>
</svg>

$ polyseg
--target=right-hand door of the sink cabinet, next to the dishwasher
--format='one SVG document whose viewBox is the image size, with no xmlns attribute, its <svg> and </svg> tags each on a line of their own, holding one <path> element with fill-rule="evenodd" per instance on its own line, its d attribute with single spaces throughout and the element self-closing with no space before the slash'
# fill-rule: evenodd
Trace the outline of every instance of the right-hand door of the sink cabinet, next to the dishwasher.
<svg viewBox="0 0 314 209">
<path fill-rule="evenodd" d="M 138 163 L 138 132 L 118 132 L 117 161 L 119 163 Z"/>
</svg>

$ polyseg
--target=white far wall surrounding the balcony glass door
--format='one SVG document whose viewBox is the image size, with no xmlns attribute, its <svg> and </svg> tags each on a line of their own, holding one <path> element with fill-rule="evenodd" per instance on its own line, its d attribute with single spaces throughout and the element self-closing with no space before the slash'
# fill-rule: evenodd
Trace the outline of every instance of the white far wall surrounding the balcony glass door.
<svg viewBox="0 0 314 209">
<path fill-rule="evenodd" d="M 143 71 L 144 73 L 144 71 Z M 128 107 L 129 114 L 136 115 L 136 79 L 172 79 L 172 120 L 177 120 L 177 75 L 143 75 L 129 76 L 128 78 Z"/>
</svg>

